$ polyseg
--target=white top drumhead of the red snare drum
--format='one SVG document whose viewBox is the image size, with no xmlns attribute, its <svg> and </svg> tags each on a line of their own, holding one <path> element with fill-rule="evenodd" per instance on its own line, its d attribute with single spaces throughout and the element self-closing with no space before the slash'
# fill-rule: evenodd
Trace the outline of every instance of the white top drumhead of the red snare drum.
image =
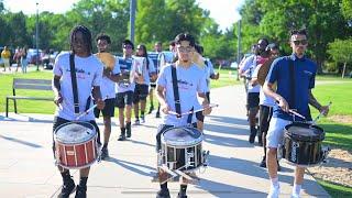
<svg viewBox="0 0 352 198">
<path fill-rule="evenodd" d="M 97 135 L 89 122 L 68 122 L 57 128 L 54 139 L 65 144 L 85 143 Z"/>
</svg>

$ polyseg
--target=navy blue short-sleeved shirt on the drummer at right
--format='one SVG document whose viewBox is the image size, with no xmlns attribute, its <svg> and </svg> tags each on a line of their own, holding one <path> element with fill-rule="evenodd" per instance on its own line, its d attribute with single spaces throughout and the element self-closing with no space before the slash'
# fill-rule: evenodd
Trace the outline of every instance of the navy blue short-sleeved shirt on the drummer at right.
<svg viewBox="0 0 352 198">
<path fill-rule="evenodd" d="M 295 92 L 292 91 L 289 61 L 294 63 L 295 68 Z M 317 65 L 307 57 L 298 58 L 293 54 L 290 56 L 276 58 L 273 62 L 266 81 L 271 84 L 276 81 L 276 92 L 285 98 L 289 109 L 295 109 L 295 111 L 306 117 L 307 121 L 311 121 L 308 106 L 309 90 L 315 87 L 316 73 Z M 295 99 L 293 99 L 293 95 L 295 96 Z M 284 112 L 277 105 L 274 106 L 273 117 L 293 121 L 293 116 Z M 298 117 L 295 117 L 295 120 L 302 121 L 302 119 Z"/>
</svg>

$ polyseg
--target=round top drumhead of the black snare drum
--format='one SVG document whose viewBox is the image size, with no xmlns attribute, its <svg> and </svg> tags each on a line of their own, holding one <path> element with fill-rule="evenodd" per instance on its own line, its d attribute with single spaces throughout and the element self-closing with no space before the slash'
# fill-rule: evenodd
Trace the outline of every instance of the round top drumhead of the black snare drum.
<svg viewBox="0 0 352 198">
<path fill-rule="evenodd" d="M 317 125 L 309 123 L 292 123 L 285 127 L 285 135 L 296 141 L 322 141 L 324 132 Z"/>
</svg>

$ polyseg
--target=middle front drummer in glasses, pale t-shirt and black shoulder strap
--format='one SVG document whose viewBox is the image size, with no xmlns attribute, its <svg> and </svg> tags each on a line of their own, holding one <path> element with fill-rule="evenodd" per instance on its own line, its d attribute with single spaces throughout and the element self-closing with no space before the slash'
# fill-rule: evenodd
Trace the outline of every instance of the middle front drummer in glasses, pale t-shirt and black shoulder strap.
<svg viewBox="0 0 352 198">
<path fill-rule="evenodd" d="M 170 111 L 177 112 L 178 108 L 176 106 L 180 106 L 180 112 L 187 112 L 193 108 L 201 108 L 194 107 L 198 103 L 197 95 L 202 99 L 201 103 L 205 108 L 204 114 L 209 114 L 211 109 L 209 107 L 208 99 L 206 97 L 206 79 L 204 72 L 191 62 L 193 52 L 195 47 L 195 38 L 187 33 L 178 34 L 175 37 L 176 52 L 178 56 L 178 61 L 174 64 L 166 65 L 160 74 L 160 77 L 156 81 L 156 96 L 158 101 L 161 102 L 161 110 L 165 113 L 163 123 L 158 127 L 157 135 L 156 135 L 156 150 L 161 148 L 161 136 L 162 133 L 169 128 L 173 127 L 183 127 L 187 124 L 193 124 L 193 127 L 197 127 L 196 118 L 194 114 L 183 116 L 177 118 L 174 114 L 170 114 Z M 177 76 L 177 86 L 178 86 L 178 95 L 179 102 L 175 102 L 174 98 L 174 88 L 173 88 L 173 77 L 172 77 L 172 67 L 176 69 Z M 198 105 L 199 106 L 199 105 Z M 162 170 L 158 169 L 158 174 L 163 175 Z M 183 180 L 183 179 L 182 179 Z M 180 190 L 178 193 L 178 197 L 185 198 L 186 196 L 187 184 L 180 184 Z M 156 195 L 157 198 L 169 197 L 169 191 L 167 188 L 167 183 L 161 184 L 161 190 Z"/>
</svg>

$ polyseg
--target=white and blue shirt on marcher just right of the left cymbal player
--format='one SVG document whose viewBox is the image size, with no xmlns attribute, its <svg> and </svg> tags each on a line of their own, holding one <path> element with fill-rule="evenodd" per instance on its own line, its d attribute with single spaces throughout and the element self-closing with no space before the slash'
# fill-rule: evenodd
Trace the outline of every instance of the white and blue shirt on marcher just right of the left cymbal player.
<svg viewBox="0 0 352 198">
<path fill-rule="evenodd" d="M 118 57 L 118 62 L 120 65 L 121 75 L 129 77 L 129 80 L 119 81 L 116 88 L 116 92 L 134 91 L 135 82 L 133 75 L 136 70 L 133 58 Z"/>
</svg>

